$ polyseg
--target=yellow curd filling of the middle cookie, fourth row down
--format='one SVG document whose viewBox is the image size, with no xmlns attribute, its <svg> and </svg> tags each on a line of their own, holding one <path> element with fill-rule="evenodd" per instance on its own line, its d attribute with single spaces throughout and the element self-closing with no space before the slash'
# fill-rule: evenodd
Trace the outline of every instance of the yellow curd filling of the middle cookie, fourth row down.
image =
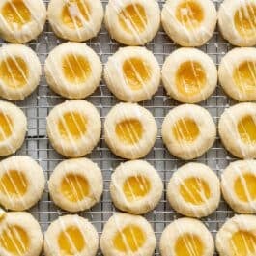
<svg viewBox="0 0 256 256">
<path fill-rule="evenodd" d="M 150 189 L 150 181 L 141 175 L 129 177 L 123 185 L 123 190 L 128 201 L 134 201 L 144 197 L 149 193 Z"/>
</svg>

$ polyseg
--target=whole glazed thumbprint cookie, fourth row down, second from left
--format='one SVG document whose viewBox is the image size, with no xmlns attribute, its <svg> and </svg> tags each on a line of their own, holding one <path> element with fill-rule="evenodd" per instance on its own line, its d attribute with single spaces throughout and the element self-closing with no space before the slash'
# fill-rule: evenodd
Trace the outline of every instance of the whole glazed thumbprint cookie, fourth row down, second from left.
<svg viewBox="0 0 256 256">
<path fill-rule="evenodd" d="M 59 163 L 48 182 L 54 203 L 71 213 L 90 209 L 100 201 L 103 180 L 100 168 L 87 158 Z"/>
</svg>

